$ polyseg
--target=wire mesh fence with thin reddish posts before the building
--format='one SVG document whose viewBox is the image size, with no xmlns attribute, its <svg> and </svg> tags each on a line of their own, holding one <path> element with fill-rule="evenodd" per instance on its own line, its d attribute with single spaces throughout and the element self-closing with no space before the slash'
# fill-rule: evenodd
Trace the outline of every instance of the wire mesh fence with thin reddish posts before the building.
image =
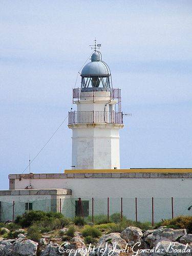
<svg viewBox="0 0 192 256">
<path fill-rule="evenodd" d="M 0 221 L 15 220 L 29 210 L 61 212 L 68 218 L 82 216 L 94 221 L 97 216 L 110 219 L 114 213 L 140 222 L 159 222 L 177 216 L 192 216 L 192 198 L 62 198 L 25 202 L 0 201 Z"/>
</svg>

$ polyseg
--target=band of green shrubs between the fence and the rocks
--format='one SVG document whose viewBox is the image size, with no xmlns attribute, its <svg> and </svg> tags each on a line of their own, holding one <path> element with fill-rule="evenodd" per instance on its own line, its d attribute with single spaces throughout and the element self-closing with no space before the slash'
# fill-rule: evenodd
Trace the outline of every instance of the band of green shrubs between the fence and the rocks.
<svg viewBox="0 0 192 256">
<path fill-rule="evenodd" d="M 152 229 L 149 222 L 136 222 L 127 219 L 115 213 L 109 220 L 106 215 L 94 216 L 94 224 L 86 225 L 91 222 L 89 216 L 86 219 L 76 217 L 73 220 L 64 217 L 57 212 L 28 211 L 22 216 L 18 216 L 14 223 L 0 223 L 0 235 L 6 239 L 14 239 L 19 233 L 27 233 L 27 238 L 33 241 L 39 241 L 42 233 L 50 232 L 50 238 L 62 238 L 62 241 L 70 241 L 78 230 L 84 237 L 86 244 L 95 244 L 102 233 L 122 232 L 126 227 L 135 226 L 142 230 Z M 192 216 L 179 216 L 173 220 L 162 220 L 157 223 L 155 228 L 166 226 L 168 228 L 186 228 L 188 233 L 192 233 Z M 9 232 L 6 232 L 6 227 Z M 24 231 L 17 231 L 19 228 L 25 228 Z M 67 231 L 62 231 L 63 227 L 68 227 Z M 110 241 L 109 241 L 110 242 Z"/>
</svg>

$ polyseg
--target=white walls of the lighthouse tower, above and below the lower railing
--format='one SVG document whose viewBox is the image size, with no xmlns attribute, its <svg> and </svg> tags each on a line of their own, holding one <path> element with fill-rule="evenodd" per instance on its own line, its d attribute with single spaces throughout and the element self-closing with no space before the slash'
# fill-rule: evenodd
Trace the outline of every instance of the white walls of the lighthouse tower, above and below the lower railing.
<svg viewBox="0 0 192 256">
<path fill-rule="evenodd" d="M 96 97 L 99 92 L 81 92 L 76 101 L 77 111 L 115 111 L 116 100 L 110 99 L 110 92 L 102 92 L 105 97 Z M 78 120 L 80 121 L 80 120 Z M 119 129 L 122 125 L 108 123 L 95 125 L 69 125 L 72 135 L 73 169 L 114 169 L 120 168 Z"/>
</svg>

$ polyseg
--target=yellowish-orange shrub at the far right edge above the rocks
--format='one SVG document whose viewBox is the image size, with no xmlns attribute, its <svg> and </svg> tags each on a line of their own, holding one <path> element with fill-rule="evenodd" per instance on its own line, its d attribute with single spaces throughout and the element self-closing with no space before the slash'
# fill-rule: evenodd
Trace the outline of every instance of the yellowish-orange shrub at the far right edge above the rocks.
<svg viewBox="0 0 192 256">
<path fill-rule="evenodd" d="M 155 228 L 167 226 L 167 228 L 186 228 L 188 233 L 192 233 L 192 216 L 178 216 L 172 220 L 162 220 Z"/>
</svg>

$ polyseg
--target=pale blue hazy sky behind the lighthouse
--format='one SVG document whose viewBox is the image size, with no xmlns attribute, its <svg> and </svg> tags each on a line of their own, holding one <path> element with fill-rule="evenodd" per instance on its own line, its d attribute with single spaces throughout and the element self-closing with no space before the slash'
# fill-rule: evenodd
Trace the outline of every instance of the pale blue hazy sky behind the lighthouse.
<svg viewBox="0 0 192 256">
<path fill-rule="evenodd" d="M 72 89 L 95 37 L 132 113 L 120 131 L 121 168 L 192 167 L 190 0 L 1 0 L 0 28 L 0 189 L 75 110 Z M 67 124 L 31 172 L 71 168 Z"/>
</svg>

